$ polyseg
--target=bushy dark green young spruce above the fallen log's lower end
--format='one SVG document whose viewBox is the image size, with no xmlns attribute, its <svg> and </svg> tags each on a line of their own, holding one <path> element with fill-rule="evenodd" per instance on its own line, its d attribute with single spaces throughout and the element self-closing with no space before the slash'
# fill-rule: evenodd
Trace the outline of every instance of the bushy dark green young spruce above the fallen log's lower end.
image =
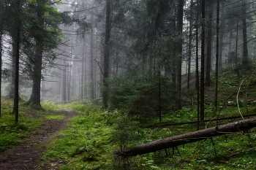
<svg viewBox="0 0 256 170">
<path fill-rule="evenodd" d="M 176 86 L 167 77 L 148 77 L 135 72 L 124 74 L 118 80 L 118 85 L 115 80 L 110 82 L 110 108 L 142 118 L 157 117 L 159 108 L 162 113 L 173 109 Z"/>
</svg>

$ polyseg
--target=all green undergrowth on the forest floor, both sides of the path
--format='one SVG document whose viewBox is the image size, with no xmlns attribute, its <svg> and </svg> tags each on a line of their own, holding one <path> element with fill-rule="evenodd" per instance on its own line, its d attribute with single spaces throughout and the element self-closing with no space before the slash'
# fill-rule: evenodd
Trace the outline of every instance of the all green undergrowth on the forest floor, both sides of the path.
<svg viewBox="0 0 256 170">
<path fill-rule="evenodd" d="M 219 114 L 219 117 L 230 117 L 239 115 L 237 107 L 225 106 L 225 97 L 237 88 L 241 80 L 235 80 L 235 75 L 220 74 L 219 92 L 221 100 L 219 108 L 222 111 L 215 112 L 211 104 L 212 95 L 207 94 L 210 104 L 206 105 L 206 119 L 211 119 Z M 228 76 L 227 76 L 228 75 Z M 228 79 L 227 77 L 230 77 Z M 231 80 L 232 79 L 232 80 Z M 236 85 L 232 82 L 236 82 Z M 252 82 L 256 82 L 253 80 Z M 253 83 L 252 83 L 253 84 Z M 245 87 L 245 86 L 244 86 Z M 245 88 L 242 88 L 245 91 Z M 251 87 L 252 92 L 249 98 L 256 98 L 256 88 Z M 209 90 L 214 93 L 214 90 Z M 211 97 L 211 98 L 210 98 Z M 210 99 L 209 99 L 210 98 Z M 236 98 L 232 96 L 230 99 Z M 244 101 L 244 94 L 239 96 Z M 241 103 L 242 103 L 241 102 Z M 7 102 L 8 103 L 8 102 Z M 221 104 L 222 103 L 222 104 Z M 255 113 L 256 106 L 249 105 L 247 108 L 242 103 L 241 113 Z M 26 138 L 32 129 L 37 128 L 43 120 L 62 119 L 63 115 L 53 115 L 50 112 L 58 112 L 60 107 L 51 103 L 43 103 L 45 110 L 37 112 L 39 118 L 30 116 L 26 111 L 29 108 L 22 107 L 20 112 L 20 123 L 14 125 L 13 115 L 9 114 L 10 109 L 4 109 L 3 117 L 0 119 L 0 131 L 4 134 L 1 137 L 0 146 L 3 150 L 13 144 L 19 144 L 20 140 Z M 225 136 L 214 137 L 214 144 L 210 139 L 205 141 L 185 144 L 178 146 L 178 149 L 167 149 L 167 155 L 164 150 L 138 155 L 132 158 L 118 158 L 112 154 L 113 150 L 120 147 L 129 147 L 136 144 L 143 144 L 157 139 L 165 139 L 169 136 L 186 134 L 196 131 L 196 125 L 173 125 L 165 128 L 143 128 L 146 124 L 152 125 L 159 120 L 148 119 L 143 123 L 136 117 L 127 117 L 121 115 L 118 110 L 112 112 L 102 110 L 97 104 L 77 101 L 72 104 L 61 105 L 62 109 L 76 110 L 79 115 L 73 117 L 67 128 L 62 130 L 52 141 L 48 142 L 47 150 L 42 157 L 45 161 L 62 161 L 60 169 L 255 169 L 256 149 L 253 143 L 256 140 L 256 129 L 249 130 L 249 139 L 247 134 L 238 132 Z M 180 111 L 169 112 L 163 115 L 163 122 L 188 122 L 197 120 L 197 110 L 193 108 L 184 108 Z M 236 119 L 236 120 L 241 120 Z M 222 120 L 219 124 L 230 123 L 236 120 Z M 208 128 L 214 127 L 216 122 L 208 123 Z M 205 128 L 204 126 L 200 127 Z M 6 134 L 6 135 L 5 135 Z M 174 155 L 173 155 L 174 152 Z M 215 155 L 217 153 L 217 157 Z M 41 165 L 45 169 L 44 165 Z M 47 167 L 48 169 L 52 167 Z"/>
</svg>

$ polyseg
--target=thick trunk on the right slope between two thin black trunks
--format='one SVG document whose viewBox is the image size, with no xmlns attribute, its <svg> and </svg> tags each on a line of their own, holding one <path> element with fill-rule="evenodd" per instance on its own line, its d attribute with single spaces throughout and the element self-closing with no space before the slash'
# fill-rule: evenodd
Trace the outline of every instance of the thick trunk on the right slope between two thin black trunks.
<svg viewBox="0 0 256 170">
<path fill-rule="evenodd" d="M 208 14 L 208 20 L 209 20 L 209 25 L 207 29 L 207 55 L 206 55 L 206 86 L 211 85 L 211 42 L 212 42 L 212 34 L 211 34 L 211 28 L 212 28 L 212 17 L 213 17 L 213 10 L 209 9 L 209 14 Z"/>
</svg>

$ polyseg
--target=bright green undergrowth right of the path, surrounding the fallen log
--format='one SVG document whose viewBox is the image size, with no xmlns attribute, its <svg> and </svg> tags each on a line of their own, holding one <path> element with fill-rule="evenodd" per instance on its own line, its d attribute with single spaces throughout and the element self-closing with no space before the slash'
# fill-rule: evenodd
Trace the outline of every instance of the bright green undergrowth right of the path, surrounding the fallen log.
<svg viewBox="0 0 256 170">
<path fill-rule="evenodd" d="M 65 107 L 80 111 L 78 117 L 72 118 L 68 128 L 61 131 L 45 151 L 44 160 L 64 161 L 61 169 L 254 169 L 256 158 L 252 141 L 239 132 L 237 134 L 215 137 L 215 146 L 210 139 L 179 146 L 178 150 L 167 149 L 136 156 L 134 158 L 116 158 L 113 150 L 135 144 L 143 144 L 157 139 L 164 139 L 177 134 L 196 131 L 196 125 L 177 125 L 167 128 L 142 128 L 136 117 L 127 117 L 120 112 L 102 111 L 97 105 L 73 103 Z M 253 112 L 255 106 L 248 110 Z M 245 107 L 241 107 L 245 112 Z M 169 115 L 165 120 L 184 122 L 195 120 L 195 109 L 182 109 Z M 208 118 L 214 117 L 211 106 L 206 109 Z M 236 107 L 225 107 L 222 117 L 238 115 Z M 167 119 L 168 117 L 168 119 Z M 148 120 L 148 124 L 157 120 Z M 230 123 L 236 120 L 225 120 Z M 212 127 L 215 123 L 209 123 Z M 204 128 L 204 127 L 201 127 Z M 256 129 L 249 131 L 253 141 Z M 217 152 L 215 157 L 214 148 Z M 43 165 L 42 165 L 43 166 Z"/>
</svg>

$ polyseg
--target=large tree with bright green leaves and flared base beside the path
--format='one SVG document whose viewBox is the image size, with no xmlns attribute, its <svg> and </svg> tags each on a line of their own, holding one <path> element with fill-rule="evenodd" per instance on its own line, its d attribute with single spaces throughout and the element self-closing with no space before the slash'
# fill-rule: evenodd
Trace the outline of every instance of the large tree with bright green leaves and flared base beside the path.
<svg viewBox="0 0 256 170">
<path fill-rule="evenodd" d="M 41 79 L 42 79 L 42 60 L 43 53 L 47 54 L 46 61 L 54 60 L 53 50 L 61 42 L 61 31 L 59 23 L 61 14 L 55 8 L 48 5 L 48 0 L 39 0 L 31 2 L 31 15 L 35 15 L 33 24 L 30 28 L 30 34 L 35 41 L 35 52 L 32 62 L 32 92 L 29 101 L 31 107 L 41 107 Z M 33 10 L 35 9 L 35 10 Z M 34 12 L 35 11 L 35 12 Z M 67 18 L 67 15 L 65 15 Z M 51 28 L 51 29 L 49 29 Z M 34 30 L 37 30 L 34 32 Z"/>
</svg>

